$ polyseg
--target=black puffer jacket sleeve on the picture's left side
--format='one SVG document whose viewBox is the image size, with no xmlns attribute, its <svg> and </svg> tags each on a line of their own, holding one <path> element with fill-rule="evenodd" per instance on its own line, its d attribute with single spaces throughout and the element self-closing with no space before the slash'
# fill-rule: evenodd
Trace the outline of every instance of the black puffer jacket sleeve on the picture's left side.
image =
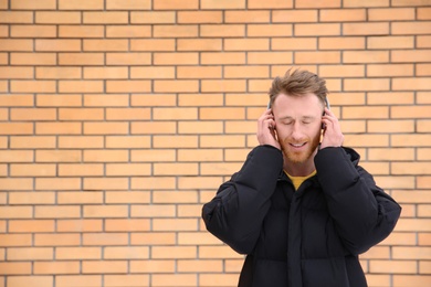
<svg viewBox="0 0 431 287">
<path fill-rule="evenodd" d="M 259 146 L 241 170 L 220 185 L 202 208 L 207 230 L 240 254 L 250 254 L 260 235 L 277 178 L 283 171 L 281 150 Z"/>
</svg>

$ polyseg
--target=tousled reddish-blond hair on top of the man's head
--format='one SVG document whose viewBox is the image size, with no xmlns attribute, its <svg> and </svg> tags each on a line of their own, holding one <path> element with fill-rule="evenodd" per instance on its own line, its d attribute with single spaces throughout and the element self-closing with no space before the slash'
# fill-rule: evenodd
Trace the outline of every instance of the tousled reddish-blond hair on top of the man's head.
<svg viewBox="0 0 431 287">
<path fill-rule="evenodd" d="M 326 88 L 326 81 L 308 71 L 295 70 L 291 74 L 291 70 L 287 70 L 283 77 L 277 76 L 272 82 L 269 92 L 270 105 L 272 106 L 275 98 L 282 93 L 288 96 L 302 96 L 312 93 L 325 106 L 326 96 L 329 93 Z"/>
</svg>

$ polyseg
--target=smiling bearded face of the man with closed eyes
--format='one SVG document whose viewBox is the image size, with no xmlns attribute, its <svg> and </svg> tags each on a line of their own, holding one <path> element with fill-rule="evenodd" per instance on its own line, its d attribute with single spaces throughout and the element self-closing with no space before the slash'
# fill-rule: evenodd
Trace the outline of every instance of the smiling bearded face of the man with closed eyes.
<svg viewBox="0 0 431 287">
<path fill-rule="evenodd" d="M 320 141 L 323 104 L 314 94 L 280 94 L 273 105 L 278 142 L 287 161 L 305 163 Z"/>
</svg>

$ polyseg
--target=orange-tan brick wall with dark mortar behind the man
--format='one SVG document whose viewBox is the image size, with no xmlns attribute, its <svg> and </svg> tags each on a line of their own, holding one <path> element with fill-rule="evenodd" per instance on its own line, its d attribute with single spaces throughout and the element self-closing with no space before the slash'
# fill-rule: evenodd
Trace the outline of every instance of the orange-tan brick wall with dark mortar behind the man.
<svg viewBox="0 0 431 287">
<path fill-rule="evenodd" d="M 0 287 L 235 286 L 201 205 L 292 66 L 403 206 L 369 285 L 431 286 L 430 0 L 0 0 Z"/>
</svg>

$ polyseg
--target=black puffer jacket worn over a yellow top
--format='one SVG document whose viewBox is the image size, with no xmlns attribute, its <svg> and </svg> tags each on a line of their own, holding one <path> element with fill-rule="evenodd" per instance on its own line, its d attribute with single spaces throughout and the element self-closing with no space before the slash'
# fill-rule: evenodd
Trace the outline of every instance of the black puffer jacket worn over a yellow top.
<svg viewBox="0 0 431 287">
<path fill-rule="evenodd" d="M 297 191 L 282 152 L 259 146 L 203 205 L 209 232 L 246 259 L 240 287 L 365 287 L 358 255 L 393 230 L 401 208 L 348 148 L 325 148 Z"/>
</svg>

